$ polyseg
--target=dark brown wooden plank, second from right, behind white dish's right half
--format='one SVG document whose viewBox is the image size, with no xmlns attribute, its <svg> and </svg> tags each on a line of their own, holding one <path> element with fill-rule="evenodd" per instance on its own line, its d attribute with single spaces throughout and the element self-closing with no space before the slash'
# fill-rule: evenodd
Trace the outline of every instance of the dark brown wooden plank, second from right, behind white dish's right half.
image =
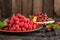
<svg viewBox="0 0 60 40">
<path fill-rule="evenodd" d="M 53 10 L 54 10 L 53 0 L 44 0 L 44 12 L 46 12 L 49 17 L 54 17 Z"/>
</svg>

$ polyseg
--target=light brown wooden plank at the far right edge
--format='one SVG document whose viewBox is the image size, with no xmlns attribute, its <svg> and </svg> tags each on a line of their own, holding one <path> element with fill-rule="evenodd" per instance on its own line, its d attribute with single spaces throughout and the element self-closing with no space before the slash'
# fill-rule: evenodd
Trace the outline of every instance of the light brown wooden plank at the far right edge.
<svg viewBox="0 0 60 40">
<path fill-rule="evenodd" d="M 54 0 L 54 17 L 60 18 L 60 0 Z"/>
</svg>

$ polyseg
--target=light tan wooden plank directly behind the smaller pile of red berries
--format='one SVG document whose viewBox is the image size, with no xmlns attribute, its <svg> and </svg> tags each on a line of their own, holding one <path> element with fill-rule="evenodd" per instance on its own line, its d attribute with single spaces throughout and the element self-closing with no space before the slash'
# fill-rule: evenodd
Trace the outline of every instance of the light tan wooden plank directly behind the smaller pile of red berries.
<svg viewBox="0 0 60 40">
<path fill-rule="evenodd" d="M 38 11 L 42 12 L 42 0 L 33 0 L 33 14 Z"/>
</svg>

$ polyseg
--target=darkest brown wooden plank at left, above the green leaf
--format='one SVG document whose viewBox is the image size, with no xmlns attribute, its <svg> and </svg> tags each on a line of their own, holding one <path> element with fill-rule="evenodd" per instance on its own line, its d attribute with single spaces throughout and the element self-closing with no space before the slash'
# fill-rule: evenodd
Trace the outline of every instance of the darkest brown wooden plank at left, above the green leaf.
<svg viewBox="0 0 60 40">
<path fill-rule="evenodd" d="M 11 0 L 2 0 L 2 17 L 11 16 Z"/>
</svg>

